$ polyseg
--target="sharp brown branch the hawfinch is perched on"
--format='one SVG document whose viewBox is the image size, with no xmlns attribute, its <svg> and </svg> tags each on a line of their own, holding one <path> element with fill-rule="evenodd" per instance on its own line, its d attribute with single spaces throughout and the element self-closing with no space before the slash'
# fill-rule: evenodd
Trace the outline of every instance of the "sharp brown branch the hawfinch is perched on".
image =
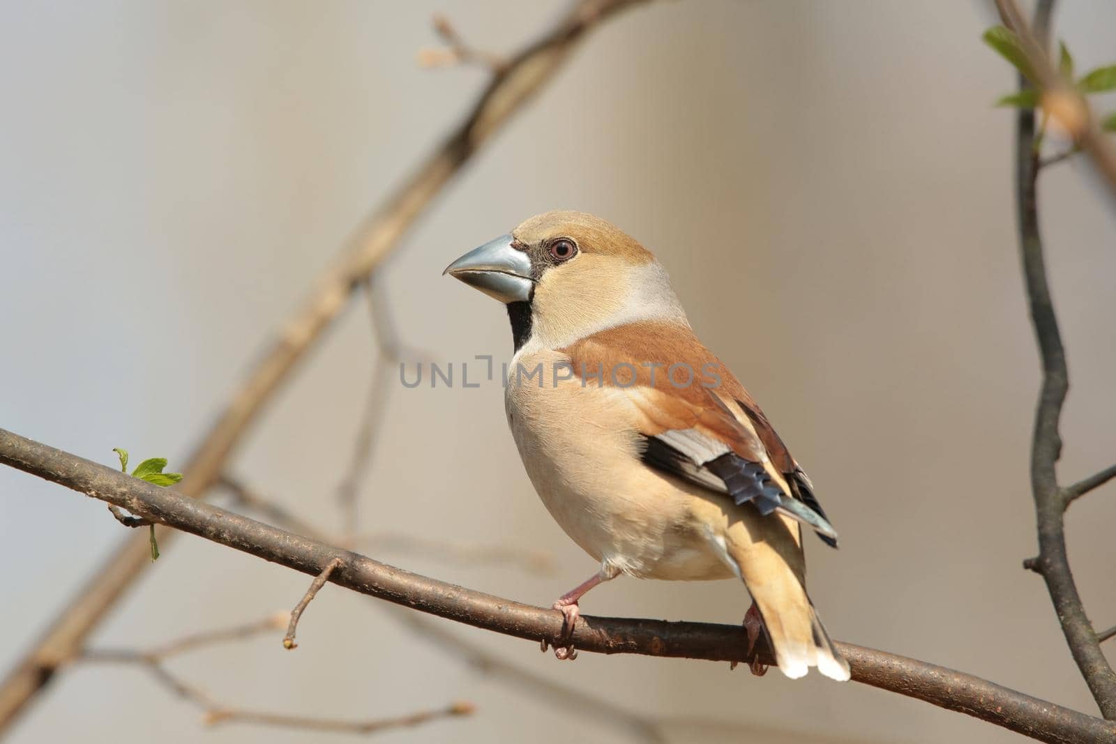
<svg viewBox="0 0 1116 744">
<path fill-rule="evenodd" d="M 145 519 L 318 576 L 335 558 L 333 583 L 478 628 L 551 644 L 562 638 L 561 612 L 472 591 L 393 568 L 320 541 L 187 499 L 113 468 L 0 429 L 0 464 L 42 477 Z M 740 626 L 584 617 L 573 632 L 581 651 L 643 654 L 713 661 L 751 661 Z M 925 661 L 838 642 L 853 679 L 965 713 L 1042 742 L 1116 742 L 1116 724 L 985 679 Z M 773 664 L 770 649 L 756 656 Z"/>
</svg>

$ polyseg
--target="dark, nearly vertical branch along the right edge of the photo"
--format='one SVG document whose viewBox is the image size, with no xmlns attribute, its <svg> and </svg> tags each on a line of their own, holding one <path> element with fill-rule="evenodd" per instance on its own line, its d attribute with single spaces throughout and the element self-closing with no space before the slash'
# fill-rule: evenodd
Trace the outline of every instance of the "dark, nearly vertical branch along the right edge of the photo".
<svg viewBox="0 0 1116 744">
<path fill-rule="evenodd" d="M 1035 58 L 1032 66 L 1049 65 L 1045 49 L 1052 0 L 1039 2 L 1033 33 L 1021 20 L 1018 8 L 1011 0 L 997 0 L 997 3 L 1004 13 L 1008 26 L 1027 40 L 1028 48 L 1033 47 L 1028 55 L 1029 58 Z M 1057 74 L 1055 77 L 1058 77 Z M 1020 76 L 1020 88 L 1027 87 L 1027 80 Z M 1035 112 L 1021 108 L 1016 131 L 1016 196 L 1020 253 L 1031 322 L 1042 360 L 1042 385 L 1031 439 L 1031 491 L 1037 515 L 1039 554 L 1024 561 L 1023 567 L 1040 573 L 1046 581 L 1070 654 L 1081 670 L 1101 714 L 1105 718 L 1114 719 L 1116 674 L 1100 650 L 1093 625 L 1085 613 L 1085 605 L 1077 591 L 1066 552 L 1064 514 L 1071 497 L 1058 486 L 1056 464 L 1061 456 L 1059 421 L 1069 390 L 1069 371 L 1061 334 L 1058 330 L 1058 318 L 1050 298 L 1042 238 L 1039 232 L 1038 157 L 1035 147 Z"/>
</svg>

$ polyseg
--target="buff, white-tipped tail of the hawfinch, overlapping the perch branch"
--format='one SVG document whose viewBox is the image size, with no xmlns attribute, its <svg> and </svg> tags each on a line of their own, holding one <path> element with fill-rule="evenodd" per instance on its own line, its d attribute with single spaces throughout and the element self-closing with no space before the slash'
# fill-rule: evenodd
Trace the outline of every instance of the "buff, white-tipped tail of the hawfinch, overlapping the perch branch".
<svg viewBox="0 0 1116 744">
<path fill-rule="evenodd" d="M 780 671 L 798 679 L 806 676 L 810 667 L 817 667 L 830 679 L 845 682 L 849 678 L 848 661 L 834 648 L 814 602 L 800 583 L 796 581 L 793 586 L 782 587 L 763 583 L 748 589 L 763 617 Z"/>
</svg>

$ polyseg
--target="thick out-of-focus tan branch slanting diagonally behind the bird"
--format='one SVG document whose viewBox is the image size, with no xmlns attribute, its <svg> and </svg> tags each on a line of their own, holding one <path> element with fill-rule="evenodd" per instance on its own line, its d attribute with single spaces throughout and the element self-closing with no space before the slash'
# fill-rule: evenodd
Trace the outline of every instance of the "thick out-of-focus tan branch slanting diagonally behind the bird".
<svg viewBox="0 0 1116 744">
<path fill-rule="evenodd" d="M 184 468 L 180 491 L 200 497 L 220 477 L 234 447 L 264 405 L 337 318 L 353 290 L 375 269 L 450 178 L 566 61 L 576 44 L 600 21 L 642 0 L 580 0 L 538 41 L 492 76 L 473 108 L 374 216 L 286 323 L 247 380 L 201 438 Z M 170 534 L 160 537 L 165 548 Z M 145 535 L 132 535 L 93 572 L 93 578 L 49 624 L 47 631 L 0 684 L 0 731 L 73 659 L 85 639 L 151 563 Z"/>
</svg>

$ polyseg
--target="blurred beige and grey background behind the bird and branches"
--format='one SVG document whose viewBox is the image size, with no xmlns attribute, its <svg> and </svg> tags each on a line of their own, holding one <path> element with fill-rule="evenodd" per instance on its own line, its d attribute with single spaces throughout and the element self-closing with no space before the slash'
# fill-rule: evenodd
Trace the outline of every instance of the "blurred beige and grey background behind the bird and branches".
<svg viewBox="0 0 1116 744">
<path fill-rule="evenodd" d="M 1060 3 L 1087 69 L 1112 60 L 1116 4 Z M 181 466 L 277 323 L 366 211 L 469 108 L 487 73 L 422 69 L 439 11 L 509 52 L 562 2 L 0 1 L 0 425 L 115 464 Z M 810 539 L 833 635 L 1095 713 L 1041 580 L 1028 446 L 1038 361 L 1017 262 L 1014 86 L 980 41 L 980 2 L 653 2 L 591 35 L 554 85 L 437 197 L 377 277 L 402 340 L 441 361 L 511 355 L 503 309 L 441 277 L 551 209 L 603 215 L 654 250 L 699 336 L 759 399 L 841 533 Z M 1112 108 L 1112 100 L 1098 102 Z M 1116 453 L 1116 219 L 1078 160 L 1045 172 L 1041 219 L 1069 349 L 1062 477 Z M 321 529 L 376 364 L 363 299 L 302 364 L 232 472 Z M 407 351 L 412 364 L 419 351 Z M 413 368 L 413 367 L 412 367 Z M 499 384 L 392 395 L 358 483 L 360 528 L 541 550 L 556 569 L 373 555 L 546 605 L 594 570 L 535 495 Z M 1109 487 L 1110 491 L 1110 487 Z M 1098 492 L 1068 514 L 1095 625 L 1116 624 Z M 122 538 L 103 504 L 0 468 L 13 664 Z M 307 579 L 185 537 L 95 647 L 146 648 L 289 610 Z M 587 613 L 739 622 L 732 582 L 620 579 Z M 604 657 L 435 620 L 517 668 L 664 719 L 671 741 L 1009 742 L 1013 734 L 858 684 L 728 665 Z M 485 675 L 366 598 L 327 587 L 282 631 L 171 667 L 228 705 L 374 718 L 466 699 L 477 714 L 391 742 L 638 741 L 617 716 Z M 1114 641 L 1116 642 L 1116 641 Z M 339 738 L 350 735 L 340 734 Z M 206 726 L 140 668 L 77 665 L 13 744 L 304 742 Z"/>
</svg>

